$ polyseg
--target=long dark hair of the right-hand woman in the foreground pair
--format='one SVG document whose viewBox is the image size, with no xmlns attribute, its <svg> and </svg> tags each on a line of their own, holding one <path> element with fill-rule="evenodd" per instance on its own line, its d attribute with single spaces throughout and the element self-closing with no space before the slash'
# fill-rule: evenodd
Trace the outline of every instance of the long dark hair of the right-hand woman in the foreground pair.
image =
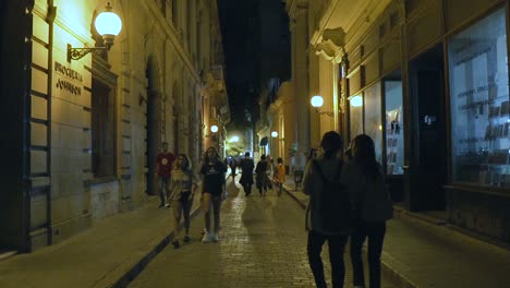
<svg viewBox="0 0 510 288">
<path fill-rule="evenodd" d="M 371 136 L 360 134 L 352 141 L 352 158 L 361 164 L 362 173 L 372 181 L 381 177 L 379 164 L 375 156 L 375 145 Z"/>
</svg>

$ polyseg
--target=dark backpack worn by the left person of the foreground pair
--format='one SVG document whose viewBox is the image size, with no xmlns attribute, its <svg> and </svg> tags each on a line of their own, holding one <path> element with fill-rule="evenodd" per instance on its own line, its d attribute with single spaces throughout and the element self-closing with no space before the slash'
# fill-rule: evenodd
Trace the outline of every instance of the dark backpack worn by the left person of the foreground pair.
<svg viewBox="0 0 510 288">
<path fill-rule="evenodd" d="M 332 179 L 327 179 L 320 165 L 313 160 L 313 165 L 323 179 L 323 191 L 316 201 L 316 213 L 320 219 L 320 230 L 326 233 L 349 232 L 352 227 L 353 209 L 345 185 L 340 183 L 340 172 L 343 161 L 339 160 L 337 172 Z"/>
</svg>

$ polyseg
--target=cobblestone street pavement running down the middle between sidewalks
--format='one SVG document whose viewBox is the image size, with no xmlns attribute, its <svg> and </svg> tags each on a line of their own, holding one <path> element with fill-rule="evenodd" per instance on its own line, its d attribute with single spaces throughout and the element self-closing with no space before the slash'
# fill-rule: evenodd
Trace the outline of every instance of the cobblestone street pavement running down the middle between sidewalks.
<svg viewBox="0 0 510 288">
<path fill-rule="evenodd" d="M 286 194 L 278 197 L 270 191 L 262 197 L 254 190 L 245 197 L 229 180 L 220 242 L 199 241 L 204 227 L 199 213 L 192 220 L 192 241 L 178 250 L 168 245 L 130 287 L 315 287 L 306 260 L 303 209 Z M 329 278 L 327 251 L 323 255 Z M 350 279 L 348 271 L 345 281 Z"/>
</svg>

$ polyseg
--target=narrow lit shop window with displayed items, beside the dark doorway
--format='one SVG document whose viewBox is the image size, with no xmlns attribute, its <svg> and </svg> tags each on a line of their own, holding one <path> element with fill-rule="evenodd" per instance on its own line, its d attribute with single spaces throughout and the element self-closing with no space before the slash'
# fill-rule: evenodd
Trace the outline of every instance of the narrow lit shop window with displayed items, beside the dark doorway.
<svg viewBox="0 0 510 288">
<path fill-rule="evenodd" d="M 386 81 L 386 171 L 403 175 L 402 82 Z"/>
</svg>

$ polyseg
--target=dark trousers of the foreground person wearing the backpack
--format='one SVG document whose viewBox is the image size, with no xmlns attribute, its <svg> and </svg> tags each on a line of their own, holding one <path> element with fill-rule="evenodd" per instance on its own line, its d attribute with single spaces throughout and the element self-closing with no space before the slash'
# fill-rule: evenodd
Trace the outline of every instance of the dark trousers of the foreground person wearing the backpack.
<svg viewBox="0 0 510 288">
<path fill-rule="evenodd" d="M 308 263 L 314 274 L 317 288 L 327 288 L 324 276 L 324 264 L 320 257 L 323 245 L 328 241 L 329 261 L 331 262 L 331 283 L 333 288 L 343 287 L 345 278 L 345 264 L 343 263 L 343 252 L 349 236 L 347 235 L 321 235 L 316 231 L 308 232 Z"/>
</svg>

